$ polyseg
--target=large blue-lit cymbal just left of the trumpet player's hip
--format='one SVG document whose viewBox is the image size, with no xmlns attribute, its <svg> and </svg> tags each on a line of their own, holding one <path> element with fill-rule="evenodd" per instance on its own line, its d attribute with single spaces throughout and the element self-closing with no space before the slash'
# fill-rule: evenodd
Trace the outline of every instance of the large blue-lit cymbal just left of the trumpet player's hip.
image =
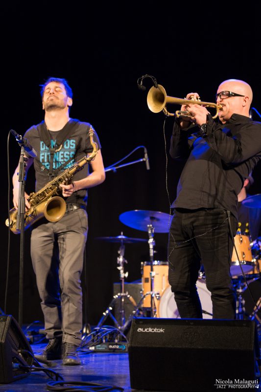
<svg viewBox="0 0 261 392">
<path fill-rule="evenodd" d="M 154 227 L 154 233 L 168 233 L 169 214 L 159 211 L 133 210 L 120 214 L 119 220 L 133 229 L 148 231 L 148 224 Z"/>
</svg>

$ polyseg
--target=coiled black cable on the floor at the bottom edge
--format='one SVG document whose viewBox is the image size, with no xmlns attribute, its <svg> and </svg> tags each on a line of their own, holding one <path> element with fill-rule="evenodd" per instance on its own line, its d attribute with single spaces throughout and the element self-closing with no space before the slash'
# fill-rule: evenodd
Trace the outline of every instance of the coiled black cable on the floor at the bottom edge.
<svg viewBox="0 0 261 392">
<path fill-rule="evenodd" d="M 74 386 L 74 387 L 73 387 Z M 78 386 L 82 386 L 85 388 L 79 388 Z M 91 388 L 88 388 L 91 387 Z M 93 388 L 92 388 L 93 387 Z M 124 388 L 117 387 L 117 386 L 108 386 L 90 382 L 77 382 L 77 381 L 49 381 L 47 383 L 47 390 L 48 391 L 78 391 L 78 392 L 107 392 L 107 391 L 124 391 Z"/>
</svg>

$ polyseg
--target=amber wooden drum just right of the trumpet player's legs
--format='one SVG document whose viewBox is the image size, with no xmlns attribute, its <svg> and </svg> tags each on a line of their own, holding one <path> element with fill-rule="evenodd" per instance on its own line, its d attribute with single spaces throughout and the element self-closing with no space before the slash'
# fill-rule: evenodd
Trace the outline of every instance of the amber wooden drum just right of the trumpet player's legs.
<svg viewBox="0 0 261 392">
<path fill-rule="evenodd" d="M 252 271 L 254 268 L 254 260 L 252 257 L 249 237 L 241 234 L 237 234 L 234 238 L 238 256 L 240 258 L 240 264 L 244 273 Z M 232 254 L 232 265 L 230 267 L 232 276 L 242 275 L 242 271 L 237 259 L 235 248 Z"/>
</svg>

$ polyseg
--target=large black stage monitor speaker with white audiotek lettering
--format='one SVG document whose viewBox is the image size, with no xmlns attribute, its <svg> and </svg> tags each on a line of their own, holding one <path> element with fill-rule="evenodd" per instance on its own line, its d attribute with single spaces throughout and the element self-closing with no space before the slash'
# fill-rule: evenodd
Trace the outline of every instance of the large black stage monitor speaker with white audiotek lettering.
<svg viewBox="0 0 261 392">
<path fill-rule="evenodd" d="M 258 385 L 257 357 L 254 321 L 132 321 L 129 367 L 133 389 L 205 392 L 224 385 L 237 389 L 246 382 Z"/>
</svg>

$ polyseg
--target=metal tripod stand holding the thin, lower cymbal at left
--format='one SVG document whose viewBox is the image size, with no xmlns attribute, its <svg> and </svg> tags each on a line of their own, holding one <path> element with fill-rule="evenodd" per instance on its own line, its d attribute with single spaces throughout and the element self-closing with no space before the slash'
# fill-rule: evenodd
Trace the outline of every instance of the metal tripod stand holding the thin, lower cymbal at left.
<svg viewBox="0 0 261 392">
<path fill-rule="evenodd" d="M 121 236 L 122 235 L 123 233 L 121 232 Z M 121 281 L 121 292 L 113 296 L 112 301 L 110 302 L 105 312 L 103 312 L 102 317 L 99 320 L 96 328 L 100 328 L 103 325 L 104 321 L 107 319 L 107 317 L 110 316 L 116 328 L 118 328 L 121 331 L 124 331 L 125 329 L 124 299 L 128 298 L 134 307 L 137 305 L 135 300 L 130 294 L 124 293 L 124 278 L 128 276 L 128 272 L 124 272 L 124 264 L 128 263 L 127 260 L 124 258 L 124 251 L 125 251 L 125 246 L 123 245 L 123 241 L 121 241 L 118 250 L 119 256 L 117 257 L 117 264 L 119 264 L 119 267 L 117 267 L 117 269 L 119 270 L 119 279 Z M 115 304 L 117 303 L 117 301 L 119 301 L 119 321 L 114 317 L 114 315 L 111 312 Z"/>
</svg>

